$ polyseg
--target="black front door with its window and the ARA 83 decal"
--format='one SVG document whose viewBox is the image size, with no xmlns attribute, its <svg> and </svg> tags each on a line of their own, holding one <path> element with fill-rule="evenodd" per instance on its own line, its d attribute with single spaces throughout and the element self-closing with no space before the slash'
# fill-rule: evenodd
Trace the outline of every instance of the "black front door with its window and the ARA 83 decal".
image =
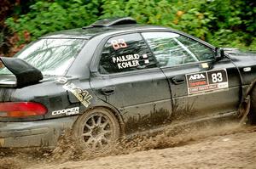
<svg viewBox="0 0 256 169">
<path fill-rule="evenodd" d="M 240 76 L 230 59 L 214 61 L 206 43 L 174 32 L 144 32 L 171 86 L 173 120 L 192 120 L 237 110 Z"/>
</svg>

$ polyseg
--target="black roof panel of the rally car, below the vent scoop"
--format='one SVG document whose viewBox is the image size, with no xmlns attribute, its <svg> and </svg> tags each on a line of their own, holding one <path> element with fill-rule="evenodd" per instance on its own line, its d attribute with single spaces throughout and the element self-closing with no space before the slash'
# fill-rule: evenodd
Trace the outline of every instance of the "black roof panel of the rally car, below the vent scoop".
<svg viewBox="0 0 256 169">
<path fill-rule="evenodd" d="M 90 39 L 104 33 L 115 33 L 122 31 L 150 31 L 150 30 L 170 30 L 170 28 L 157 26 L 157 25 L 137 25 L 137 24 L 126 24 L 126 25 L 111 25 L 111 26 L 95 26 L 95 27 L 83 27 L 72 30 L 56 31 L 53 33 L 46 34 L 41 38 L 79 38 L 79 39 Z"/>
</svg>

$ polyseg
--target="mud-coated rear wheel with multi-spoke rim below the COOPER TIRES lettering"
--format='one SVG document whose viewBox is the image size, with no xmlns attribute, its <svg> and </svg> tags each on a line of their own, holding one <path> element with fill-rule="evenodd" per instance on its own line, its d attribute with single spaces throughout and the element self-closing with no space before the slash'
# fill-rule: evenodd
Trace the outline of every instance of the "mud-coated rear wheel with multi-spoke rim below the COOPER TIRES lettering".
<svg viewBox="0 0 256 169">
<path fill-rule="evenodd" d="M 96 108 L 79 116 L 73 126 L 73 133 L 79 149 L 108 151 L 119 138 L 119 121 L 111 110 Z"/>
</svg>

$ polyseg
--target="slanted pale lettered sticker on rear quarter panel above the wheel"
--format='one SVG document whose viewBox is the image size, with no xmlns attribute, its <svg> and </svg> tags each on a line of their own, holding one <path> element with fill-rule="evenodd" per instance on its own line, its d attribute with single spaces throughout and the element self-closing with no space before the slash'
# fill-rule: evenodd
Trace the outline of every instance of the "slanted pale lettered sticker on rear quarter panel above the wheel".
<svg viewBox="0 0 256 169">
<path fill-rule="evenodd" d="M 84 106 L 87 108 L 90 105 L 90 99 L 92 99 L 92 96 L 87 90 L 83 90 L 79 87 L 76 87 L 75 84 L 72 82 L 67 82 L 67 78 L 60 77 L 57 79 L 57 82 L 60 82 L 64 84 L 62 87 L 66 89 L 67 91 L 73 93 L 73 95 L 79 99 L 81 104 L 84 104 Z"/>
</svg>

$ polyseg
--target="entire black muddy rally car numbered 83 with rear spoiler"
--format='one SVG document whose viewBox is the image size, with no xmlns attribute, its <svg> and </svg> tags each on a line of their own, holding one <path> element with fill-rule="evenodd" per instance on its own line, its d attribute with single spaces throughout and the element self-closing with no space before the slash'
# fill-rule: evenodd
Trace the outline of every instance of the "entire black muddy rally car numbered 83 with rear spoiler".
<svg viewBox="0 0 256 169">
<path fill-rule="evenodd" d="M 105 149 L 122 135 L 232 117 L 256 99 L 255 54 L 131 18 L 51 33 L 1 60 L 1 147 L 52 147 L 72 129 L 81 148 Z"/>
</svg>

